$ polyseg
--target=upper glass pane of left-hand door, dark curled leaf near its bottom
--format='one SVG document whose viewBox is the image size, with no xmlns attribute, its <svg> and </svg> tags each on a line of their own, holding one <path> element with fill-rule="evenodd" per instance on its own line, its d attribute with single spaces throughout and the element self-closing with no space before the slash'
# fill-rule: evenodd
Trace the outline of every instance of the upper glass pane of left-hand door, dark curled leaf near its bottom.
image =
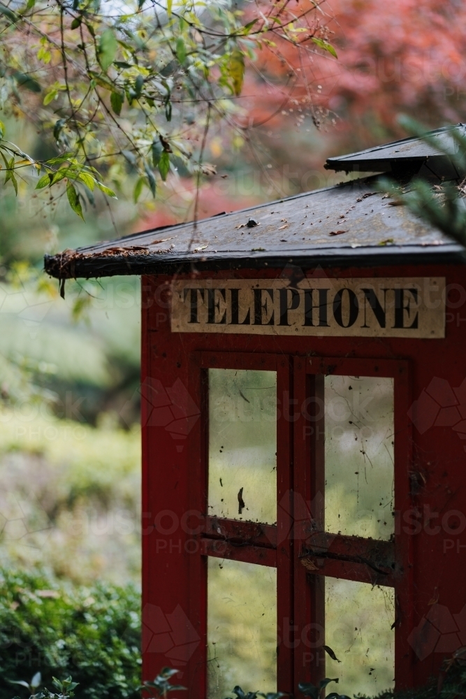
<svg viewBox="0 0 466 699">
<path fill-rule="evenodd" d="M 277 374 L 209 369 L 209 514 L 277 520 Z"/>
</svg>

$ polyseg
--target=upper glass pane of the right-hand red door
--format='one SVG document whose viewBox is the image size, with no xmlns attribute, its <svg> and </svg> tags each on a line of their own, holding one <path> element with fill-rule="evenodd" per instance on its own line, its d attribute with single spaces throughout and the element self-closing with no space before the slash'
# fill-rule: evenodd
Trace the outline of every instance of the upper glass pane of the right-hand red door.
<svg viewBox="0 0 466 699">
<path fill-rule="evenodd" d="M 393 379 L 326 376 L 326 531 L 389 539 Z"/>
</svg>

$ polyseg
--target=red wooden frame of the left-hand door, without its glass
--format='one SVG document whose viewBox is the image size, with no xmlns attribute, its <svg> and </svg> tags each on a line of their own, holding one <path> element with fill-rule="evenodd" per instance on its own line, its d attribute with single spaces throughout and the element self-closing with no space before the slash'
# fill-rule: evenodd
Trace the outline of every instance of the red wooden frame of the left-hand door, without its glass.
<svg viewBox="0 0 466 699">
<path fill-rule="evenodd" d="M 199 533 L 199 554 L 190 556 L 189 568 L 189 618 L 198 630 L 201 643 L 189 663 L 190 696 L 205 699 L 207 696 L 207 559 L 206 556 L 221 556 L 247 563 L 261 563 L 277 568 L 277 626 L 291 619 L 293 610 L 293 554 L 292 542 L 286 533 L 291 527 L 290 507 L 277 510 L 277 526 L 257 525 L 247 521 L 236 521 L 209 517 L 207 514 L 207 370 L 253 369 L 277 372 L 277 396 L 285 401 L 291 390 L 291 362 L 284 355 L 245 354 L 241 352 L 193 352 L 189 364 L 189 393 L 201 405 L 201 420 L 189 435 L 189 488 L 190 507 L 203 513 L 202 531 Z M 277 419 L 277 502 L 291 497 L 291 422 L 282 410 Z M 221 535 L 218 529 L 221 528 Z M 268 535 L 265 534 L 267 532 Z M 280 535 L 280 533 L 284 533 Z M 274 547 L 274 539 L 283 539 L 282 545 Z M 247 547 L 228 545 L 229 540 L 244 540 Z M 279 592 L 278 592 L 279 591 Z M 291 691 L 293 681 L 293 658 L 291 650 L 281 647 L 277 656 L 277 682 L 283 691 Z"/>
</svg>

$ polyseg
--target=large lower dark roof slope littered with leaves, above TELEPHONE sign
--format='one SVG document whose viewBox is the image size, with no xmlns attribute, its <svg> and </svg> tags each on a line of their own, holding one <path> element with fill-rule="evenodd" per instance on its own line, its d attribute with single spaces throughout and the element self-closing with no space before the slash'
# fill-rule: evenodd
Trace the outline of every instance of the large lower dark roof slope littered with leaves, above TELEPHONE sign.
<svg viewBox="0 0 466 699">
<path fill-rule="evenodd" d="M 257 225 L 248 226 L 249 219 Z M 251 224 L 250 224 L 251 225 Z M 45 257 L 57 278 L 463 261 L 463 248 L 377 192 L 377 177 Z"/>
</svg>

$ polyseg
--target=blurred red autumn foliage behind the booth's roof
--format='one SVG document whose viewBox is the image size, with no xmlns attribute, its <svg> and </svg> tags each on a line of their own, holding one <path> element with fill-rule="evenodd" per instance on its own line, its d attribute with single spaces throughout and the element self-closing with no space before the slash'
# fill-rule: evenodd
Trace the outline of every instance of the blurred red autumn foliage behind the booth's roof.
<svg viewBox="0 0 466 699">
<path fill-rule="evenodd" d="M 247 142 L 243 162 L 262 168 L 261 187 L 247 198 L 220 197 L 211 180 L 201 189 L 200 218 L 290 194 L 280 184 L 287 176 L 295 191 L 332 184 L 322 170 L 326 157 L 406 136 L 400 113 L 428 127 L 466 121 L 463 0 L 332 0 L 320 8 L 285 0 L 285 6 L 303 31 L 291 34 L 296 43 L 275 38 L 249 62 L 235 117 Z M 248 13 L 259 17 L 272 7 L 277 3 L 258 2 Z M 328 41 L 338 58 L 314 39 Z M 210 153 L 220 165 L 230 157 Z M 184 208 L 183 217 L 193 212 Z M 152 215 L 150 224 L 160 225 L 161 216 Z"/>
</svg>

